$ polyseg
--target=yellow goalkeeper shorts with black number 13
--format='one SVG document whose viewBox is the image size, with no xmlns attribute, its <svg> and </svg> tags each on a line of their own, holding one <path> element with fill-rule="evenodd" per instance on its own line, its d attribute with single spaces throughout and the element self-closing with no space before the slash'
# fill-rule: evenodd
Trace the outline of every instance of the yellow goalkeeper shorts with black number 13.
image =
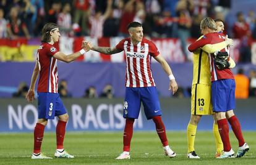
<svg viewBox="0 0 256 165">
<path fill-rule="evenodd" d="M 212 115 L 211 86 L 193 84 L 191 91 L 191 115 Z"/>
</svg>

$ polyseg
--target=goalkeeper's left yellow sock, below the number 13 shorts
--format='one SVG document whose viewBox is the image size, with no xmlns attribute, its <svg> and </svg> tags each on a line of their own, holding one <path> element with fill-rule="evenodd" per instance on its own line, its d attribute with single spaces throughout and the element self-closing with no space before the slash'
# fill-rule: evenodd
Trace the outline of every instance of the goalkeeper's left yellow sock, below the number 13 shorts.
<svg viewBox="0 0 256 165">
<path fill-rule="evenodd" d="M 194 151 L 195 134 L 197 133 L 197 126 L 193 124 L 187 125 L 187 153 Z"/>
</svg>

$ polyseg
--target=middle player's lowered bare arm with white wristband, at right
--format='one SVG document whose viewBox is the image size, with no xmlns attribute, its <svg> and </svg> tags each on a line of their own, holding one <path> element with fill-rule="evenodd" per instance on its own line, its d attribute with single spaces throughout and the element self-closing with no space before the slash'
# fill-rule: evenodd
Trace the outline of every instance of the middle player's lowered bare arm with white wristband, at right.
<svg viewBox="0 0 256 165">
<path fill-rule="evenodd" d="M 168 74 L 169 79 L 170 79 L 169 90 L 173 91 L 173 94 L 175 94 L 177 92 L 178 86 L 177 86 L 177 82 L 175 81 L 175 78 L 173 76 L 173 72 L 171 71 L 171 67 L 168 65 L 166 60 L 164 60 L 164 58 L 161 55 L 158 55 L 154 58 L 157 62 L 159 62 L 162 65 L 165 73 Z"/>
</svg>

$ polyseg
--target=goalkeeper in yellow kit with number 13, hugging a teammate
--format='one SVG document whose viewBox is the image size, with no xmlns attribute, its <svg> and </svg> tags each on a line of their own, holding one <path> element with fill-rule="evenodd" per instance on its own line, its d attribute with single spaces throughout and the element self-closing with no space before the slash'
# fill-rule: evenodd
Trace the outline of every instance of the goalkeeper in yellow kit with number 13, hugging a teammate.
<svg viewBox="0 0 256 165">
<path fill-rule="evenodd" d="M 208 28 L 213 31 L 219 31 L 220 33 L 224 30 L 224 25 L 221 20 L 213 21 Z M 203 38 L 201 36 L 198 39 Z M 187 126 L 187 157 L 188 158 L 200 158 L 194 149 L 195 135 L 197 131 L 197 124 L 199 123 L 203 115 L 213 115 L 213 109 L 211 105 L 211 74 L 210 74 L 210 62 L 208 54 L 221 50 L 224 47 L 231 45 L 232 39 L 226 38 L 226 41 L 217 44 L 208 44 L 196 52 L 193 55 L 193 81 L 192 81 L 192 97 L 191 97 L 191 117 Z M 230 58 L 230 68 L 233 68 L 236 64 Z M 218 157 L 223 151 L 223 143 L 221 141 L 220 133 L 218 131 L 218 124 L 216 119 L 213 123 L 213 134 L 216 143 L 216 155 Z"/>
</svg>

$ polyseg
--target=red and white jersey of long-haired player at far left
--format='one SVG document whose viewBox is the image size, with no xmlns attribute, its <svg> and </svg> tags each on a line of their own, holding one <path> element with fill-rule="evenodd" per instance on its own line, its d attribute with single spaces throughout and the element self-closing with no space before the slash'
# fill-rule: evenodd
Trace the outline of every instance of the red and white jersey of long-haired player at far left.
<svg viewBox="0 0 256 165">
<path fill-rule="evenodd" d="M 53 45 L 43 42 L 37 51 L 37 59 L 40 69 L 38 92 L 58 93 L 57 59 L 53 57 L 59 52 Z"/>
</svg>

